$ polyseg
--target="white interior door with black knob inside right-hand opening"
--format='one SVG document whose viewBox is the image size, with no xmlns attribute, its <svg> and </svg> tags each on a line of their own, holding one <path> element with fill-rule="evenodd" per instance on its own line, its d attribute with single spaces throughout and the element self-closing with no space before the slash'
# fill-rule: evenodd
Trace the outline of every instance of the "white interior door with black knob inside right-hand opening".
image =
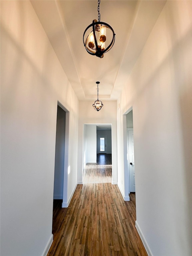
<svg viewBox="0 0 192 256">
<path fill-rule="evenodd" d="M 128 131 L 130 192 L 135 192 L 135 160 L 133 131 Z"/>
</svg>

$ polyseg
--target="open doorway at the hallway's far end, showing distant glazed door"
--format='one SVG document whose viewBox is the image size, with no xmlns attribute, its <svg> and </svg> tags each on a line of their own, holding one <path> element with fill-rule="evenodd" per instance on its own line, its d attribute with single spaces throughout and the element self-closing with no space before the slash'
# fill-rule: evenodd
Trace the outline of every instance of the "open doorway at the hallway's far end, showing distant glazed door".
<svg viewBox="0 0 192 256">
<path fill-rule="evenodd" d="M 83 184 L 112 182 L 111 128 L 111 124 L 84 124 Z"/>
</svg>

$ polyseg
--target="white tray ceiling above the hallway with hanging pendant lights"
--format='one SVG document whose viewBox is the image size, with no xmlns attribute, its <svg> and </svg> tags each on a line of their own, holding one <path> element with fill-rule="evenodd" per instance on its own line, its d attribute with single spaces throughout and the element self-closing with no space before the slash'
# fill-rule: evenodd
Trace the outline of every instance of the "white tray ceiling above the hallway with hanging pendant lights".
<svg viewBox="0 0 192 256">
<path fill-rule="evenodd" d="M 101 21 L 112 26 L 116 39 L 100 59 L 83 45 L 84 30 L 98 20 L 96 0 L 31 0 L 79 101 L 97 98 L 96 81 L 100 100 L 117 100 L 165 2 L 101 0 Z"/>
</svg>

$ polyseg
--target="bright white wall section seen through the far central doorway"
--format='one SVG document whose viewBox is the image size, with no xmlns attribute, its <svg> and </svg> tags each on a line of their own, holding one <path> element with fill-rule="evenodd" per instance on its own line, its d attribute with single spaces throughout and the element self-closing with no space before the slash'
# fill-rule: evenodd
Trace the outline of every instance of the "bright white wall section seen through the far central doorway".
<svg viewBox="0 0 192 256">
<path fill-rule="evenodd" d="M 87 162 L 97 163 L 97 131 L 96 125 L 87 125 Z"/>
</svg>

